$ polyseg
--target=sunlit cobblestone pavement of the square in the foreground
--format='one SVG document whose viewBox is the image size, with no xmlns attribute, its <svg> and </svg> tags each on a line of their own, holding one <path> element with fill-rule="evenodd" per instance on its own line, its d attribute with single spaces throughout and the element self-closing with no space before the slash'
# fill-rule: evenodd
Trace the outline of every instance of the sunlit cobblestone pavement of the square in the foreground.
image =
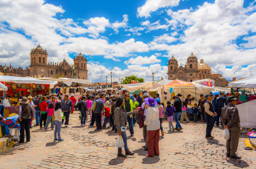
<svg viewBox="0 0 256 169">
<path fill-rule="evenodd" d="M 117 133 L 109 129 L 94 131 L 93 127 L 80 127 L 79 112 L 70 116 L 69 127 L 62 127 L 63 142 L 53 142 L 53 131 L 34 127 L 31 141 L 20 145 L 10 155 L 0 157 L 1 169 L 238 169 L 256 168 L 255 150 L 245 150 L 245 134 L 240 136 L 237 154 L 241 160 L 226 158 L 223 129 L 214 127 L 214 140 L 205 139 L 206 125 L 202 122 L 183 123 L 182 131 L 168 133 L 168 123 L 163 122 L 165 136 L 160 136 L 160 156 L 145 157 L 142 129 L 135 125 L 135 135 L 128 136 L 128 147 L 134 156 L 117 157 L 114 142 Z M 89 124 L 89 122 L 87 122 Z M 64 126 L 64 125 L 63 125 Z M 17 144 L 17 143 L 16 143 Z M 16 145 L 17 146 L 17 145 Z"/>
</svg>

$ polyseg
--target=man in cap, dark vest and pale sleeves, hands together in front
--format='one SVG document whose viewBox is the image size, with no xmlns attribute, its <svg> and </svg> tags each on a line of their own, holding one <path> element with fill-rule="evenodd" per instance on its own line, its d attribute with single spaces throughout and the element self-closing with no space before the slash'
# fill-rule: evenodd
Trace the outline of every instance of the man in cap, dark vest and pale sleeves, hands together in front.
<svg viewBox="0 0 256 169">
<path fill-rule="evenodd" d="M 213 98 L 213 94 L 206 94 L 205 98 L 207 99 L 205 101 L 204 107 L 205 107 L 205 122 L 206 122 L 206 135 L 205 138 L 212 140 L 214 136 L 211 136 L 211 131 L 214 127 L 213 117 L 217 115 L 217 113 L 214 112 L 214 105 L 212 105 L 211 100 Z"/>
</svg>

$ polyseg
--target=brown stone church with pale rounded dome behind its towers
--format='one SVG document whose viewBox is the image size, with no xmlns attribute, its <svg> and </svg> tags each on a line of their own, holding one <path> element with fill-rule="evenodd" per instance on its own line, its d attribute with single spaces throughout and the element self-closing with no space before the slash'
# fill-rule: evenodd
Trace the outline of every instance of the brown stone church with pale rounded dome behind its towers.
<svg viewBox="0 0 256 169">
<path fill-rule="evenodd" d="M 211 73 L 211 67 L 204 63 L 203 59 L 201 59 L 198 64 L 198 59 L 193 53 L 187 58 L 187 63 L 184 67 L 181 65 L 178 67 L 178 61 L 172 56 L 168 61 L 167 75 L 169 80 L 178 79 L 186 82 L 193 82 L 195 80 L 210 78 L 215 80 L 215 86 L 217 87 L 226 87 L 228 84 L 228 81 L 222 74 Z"/>
</svg>

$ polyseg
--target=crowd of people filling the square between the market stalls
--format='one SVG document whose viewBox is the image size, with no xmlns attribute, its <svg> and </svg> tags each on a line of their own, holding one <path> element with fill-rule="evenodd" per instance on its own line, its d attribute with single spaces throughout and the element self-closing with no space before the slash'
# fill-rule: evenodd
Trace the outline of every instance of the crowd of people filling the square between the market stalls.
<svg viewBox="0 0 256 169">
<path fill-rule="evenodd" d="M 24 131 L 26 131 L 27 142 L 30 141 L 29 129 L 32 128 L 31 122 L 34 119 L 36 119 L 34 126 L 40 126 L 42 131 L 48 130 L 48 126 L 51 124 L 51 130 L 54 130 L 54 141 L 64 141 L 60 136 L 61 126 L 65 121 L 64 125 L 68 127 L 69 115 L 73 113 L 74 109 L 77 109 L 81 113 L 79 118 L 82 127 L 96 125 L 95 131 L 112 127 L 111 130 L 122 137 L 125 154 L 122 153 L 122 148 L 118 148 L 119 157 L 134 155 L 134 152 L 130 151 L 127 145 L 127 132 L 129 129 L 130 137 L 133 137 L 136 123 L 139 128 L 142 128 L 145 141 L 145 146 L 142 147 L 147 151 L 145 156 L 159 156 L 160 134 L 162 137 L 165 135 L 162 127 L 163 116 L 167 116 L 168 132 L 181 131 L 183 130 L 181 126 L 183 120 L 189 122 L 187 110 L 188 105 L 192 105 L 190 109 L 194 113 L 194 122 L 197 122 L 197 115 L 200 114 L 200 120 L 207 125 L 205 138 L 209 140 L 214 138 L 211 131 L 214 124 L 219 126 L 219 121 L 223 128 L 229 129 L 230 139 L 227 140 L 227 157 L 239 159 L 240 157 L 236 156 L 235 153 L 239 140 L 238 133 L 240 134 L 239 114 L 234 106 L 237 99 L 234 96 L 227 97 L 220 91 L 219 95 L 215 96 L 212 93 L 205 96 L 201 94 L 198 104 L 194 100 L 191 95 L 184 99 L 182 95 L 178 94 L 172 100 L 168 100 L 167 107 L 165 107 L 158 93 L 156 93 L 154 99 L 147 91 L 136 95 L 130 94 L 129 91 L 126 91 L 125 94 L 93 91 L 82 94 L 79 99 L 76 99 L 74 95 L 71 95 L 71 97 L 68 95 L 62 96 L 62 93 L 57 96 L 46 93 L 45 96 L 22 97 L 19 100 L 18 111 L 20 121 L 19 142 L 24 142 Z M 4 118 L 0 116 L 0 119 Z M 176 123 L 175 127 L 172 124 L 173 120 Z M 86 122 L 90 123 L 86 124 Z M 0 122 L 0 125 L 4 127 L 2 133 L 12 137 L 9 128 L 7 129 L 2 122 Z"/>
</svg>

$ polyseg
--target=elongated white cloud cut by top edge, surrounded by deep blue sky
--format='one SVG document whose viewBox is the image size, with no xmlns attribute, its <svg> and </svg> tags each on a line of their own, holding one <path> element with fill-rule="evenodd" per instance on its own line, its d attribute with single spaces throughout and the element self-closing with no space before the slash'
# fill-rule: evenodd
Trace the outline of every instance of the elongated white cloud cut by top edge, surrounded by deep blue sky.
<svg viewBox="0 0 256 169">
<path fill-rule="evenodd" d="M 137 9 L 137 17 L 150 17 L 150 13 L 163 7 L 176 7 L 180 0 L 146 0 L 142 7 Z"/>
</svg>

